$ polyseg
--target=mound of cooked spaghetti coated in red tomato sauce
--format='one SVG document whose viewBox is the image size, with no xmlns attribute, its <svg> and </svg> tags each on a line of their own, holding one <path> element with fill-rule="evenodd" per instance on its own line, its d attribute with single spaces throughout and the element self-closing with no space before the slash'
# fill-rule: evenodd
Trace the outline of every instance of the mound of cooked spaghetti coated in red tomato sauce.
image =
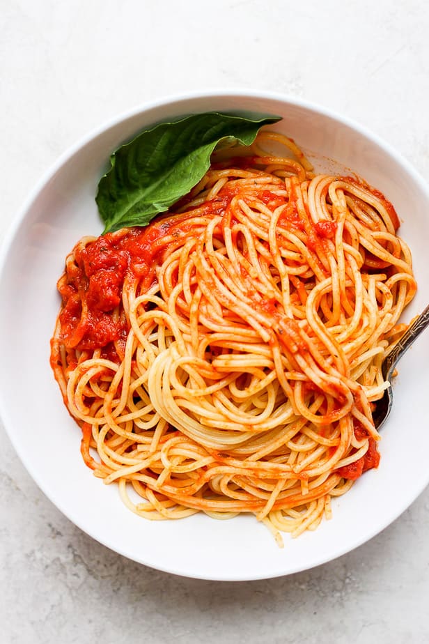
<svg viewBox="0 0 429 644">
<path fill-rule="evenodd" d="M 371 404 L 416 291 L 398 225 L 261 132 L 148 227 L 81 239 L 51 364 L 95 476 L 148 519 L 253 513 L 279 544 L 329 518 L 379 461 Z"/>
</svg>

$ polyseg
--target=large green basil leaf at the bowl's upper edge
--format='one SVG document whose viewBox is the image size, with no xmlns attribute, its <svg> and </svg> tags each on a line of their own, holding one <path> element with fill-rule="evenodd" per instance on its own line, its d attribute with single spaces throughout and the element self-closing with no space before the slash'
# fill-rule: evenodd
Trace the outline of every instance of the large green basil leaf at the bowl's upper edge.
<svg viewBox="0 0 429 644">
<path fill-rule="evenodd" d="M 111 169 L 98 184 L 95 201 L 105 224 L 103 234 L 146 226 L 200 181 L 220 141 L 250 145 L 263 125 L 280 118 L 208 112 L 141 132 L 111 155 Z"/>
</svg>

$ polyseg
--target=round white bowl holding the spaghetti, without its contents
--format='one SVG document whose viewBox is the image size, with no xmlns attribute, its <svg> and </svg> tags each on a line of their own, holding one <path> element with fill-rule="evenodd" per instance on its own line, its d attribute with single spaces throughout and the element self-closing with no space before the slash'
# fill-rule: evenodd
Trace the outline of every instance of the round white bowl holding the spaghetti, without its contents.
<svg viewBox="0 0 429 644">
<path fill-rule="evenodd" d="M 272 93 L 210 93 L 150 103 L 116 118 L 65 153 L 15 220 L 0 256 L 0 411 L 29 473 L 79 528 L 114 551 L 185 576 L 247 580 L 327 562 L 396 519 L 429 482 L 429 333 L 405 355 L 393 413 L 382 430 L 382 459 L 341 499 L 333 519 L 279 549 L 253 516 L 215 521 L 192 516 L 150 522 L 132 514 L 114 485 L 104 486 L 79 453 L 81 432 L 68 415 L 49 367 L 59 309 L 56 279 L 84 234 L 99 234 L 98 180 L 109 154 L 142 128 L 195 112 L 251 111 L 283 116 L 274 129 L 320 164 L 350 168 L 393 201 L 411 247 L 419 291 L 405 320 L 429 302 L 429 191 L 416 171 L 375 135 L 307 102 Z"/>
</svg>

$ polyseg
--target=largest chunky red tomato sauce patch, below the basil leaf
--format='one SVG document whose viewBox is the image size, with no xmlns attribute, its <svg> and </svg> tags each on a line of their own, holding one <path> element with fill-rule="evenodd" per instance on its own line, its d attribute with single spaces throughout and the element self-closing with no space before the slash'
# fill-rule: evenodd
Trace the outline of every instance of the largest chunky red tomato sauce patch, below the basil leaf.
<svg viewBox="0 0 429 644">
<path fill-rule="evenodd" d="M 161 220 L 148 228 L 107 233 L 87 245 L 78 243 L 74 261 L 68 261 L 58 282 L 63 308 L 59 314 L 61 339 L 66 348 L 78 351 L 102 348 L 103 356 L 116 358 L 112 343 L 125 346 L 129 324 L 120 312 L 126 279 L 141 277 L 150 286 L 154 260 L 162 249 L 159 240 L 169 230 Z"/>
</svg>

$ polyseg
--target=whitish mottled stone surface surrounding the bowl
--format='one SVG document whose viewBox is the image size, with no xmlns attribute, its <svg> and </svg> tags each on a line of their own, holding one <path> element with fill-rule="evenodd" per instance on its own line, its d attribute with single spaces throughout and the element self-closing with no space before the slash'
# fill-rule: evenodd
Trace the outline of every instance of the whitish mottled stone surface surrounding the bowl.
<svg viewBox="0 0 429 644">
<path fill-rule="evenodd" d="M 320 102 L 375 130 L 429 180 L 428 31 L 426 0 L 2 0 L 0 236 L 77 138 L 187 90 Z M 0 445 L 2 643 L 429 641 L 428 489 L 327 565 L 204 582 L 93 542 L 38 490 L 2 427 Z"/>
</svg>

